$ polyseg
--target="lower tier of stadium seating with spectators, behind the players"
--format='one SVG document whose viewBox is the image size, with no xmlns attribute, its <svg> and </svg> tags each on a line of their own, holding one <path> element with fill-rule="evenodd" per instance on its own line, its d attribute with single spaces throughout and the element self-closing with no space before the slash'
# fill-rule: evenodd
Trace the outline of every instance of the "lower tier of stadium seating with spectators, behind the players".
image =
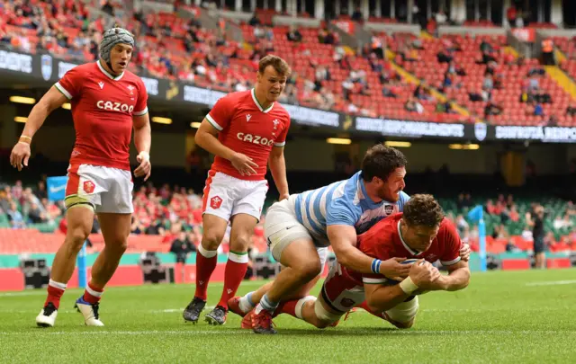
<svg viewBox="0 0 576 364">
<path fill-rule="evenodd" d="M 202 234 L 202 214 L 199 209 L 200 197 L 193 191 L 171 191 L 166 185 L 160 189 L 142 188 L 135 192 L 134 207 L 135 220 L 132 235 L 130 235 L 128 252 L 159 252 L 166 253 L 170 250 L 171 243 L 179 235 L 181 230 L 188 231 L 188 237 L 195 245 L 200 244 Z M 541 201 L 546 211 L 545 232 L 547 243 L 552 252 L 576 251 L 576 207 L 571 201 L 554 198 L 540 197 L 512 198 L 504 200 L 503 196 L 486 199 L 475 198 L 465 203 L 456 199 L 440 199 L 446 216 L 454 220 L 458 226 L 459 216 L 467 220 L 467 212 L 470 207 L 483 205 L 485 209 L 484 220 L 487 229 L 487 251 L 489 253 L 504 253 L 513 251 L 531 251 L 533 241 L 530 229 L 527 227 L 526 213 L 532 204 Z M 0 196 L 0 206 L 4 200 L 17 200 L 8 198 L 5 193 Z M 491 200 L 490 206 L 487 201 Z M 273 201 L 266 202 L 266 209 Z M 23 211 L 21 204 L 20 210 Z M 511 212 L 512 206 L 516 213 Z M 48 209 L 48 207 L 45 207 Z M 265 209 L 265 210 L 266 210 Z M 60 225 L 60 218 L 50 218 L 49 221 L 31 225 L 25 228 L 11 228 L 7 214 L 0 208 L 0 254 L 14 253 L 55 253 L 64 239 Z M 477 226 L 467 220 L 470 226 L 468 241 L 473 250 L 478 250 Z M 266 240 L 263 237 L 264 220 L 258 224 L 253 238 L 254 247 L 258 252 L 266 252 Z M 148 227 L 155 228 L 148 230 Z M 461 231 L 461 234 L 463 232 Z M 103 249 L 103 236 L 92 234 L 89 237 L 94 251 Z M 228 244 L 223 244 L 223 249 L 228 249 Z"/>
</svg>

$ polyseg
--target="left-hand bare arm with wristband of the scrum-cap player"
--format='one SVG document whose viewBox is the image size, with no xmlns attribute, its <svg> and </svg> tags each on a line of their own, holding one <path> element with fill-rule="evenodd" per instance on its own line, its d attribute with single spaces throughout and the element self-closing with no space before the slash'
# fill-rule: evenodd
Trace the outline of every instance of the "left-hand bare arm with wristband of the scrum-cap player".
<svg viewBox="0 0 576 364">
<path fill-rule="evenodd" d="M 22 136 L 18 139 L 10 155 L 10 164 L 14 168 L 18 168 L 18 171 L 22 171 L 23 165 L 28 166 L 28 159 L 31 155 L 30 145 L 34 134 L 40 129 L 48 115 L 62 106 L 64 102 L 67 102 L 67 97 L 52 86 L 48 93 L 45 93 L 40 101 L 34 105 L 30 115 L 28 115 Z"/>
</svg>

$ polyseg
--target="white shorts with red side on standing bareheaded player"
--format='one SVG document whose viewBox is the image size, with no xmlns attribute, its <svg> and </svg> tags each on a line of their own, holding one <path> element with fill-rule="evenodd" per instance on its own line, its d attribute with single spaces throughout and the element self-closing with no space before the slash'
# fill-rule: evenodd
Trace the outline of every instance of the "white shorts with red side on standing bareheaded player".
<svg viewBox="0 0 576 364">
<path fill-rule="evenodd" d="M 259 221 L 267 191 L 266 180 L 239 180 L 211 170 L 204 186 L 202 215 L 215 215 L 228 221 L 234 215 L 247 214 Z"/>
</svg>

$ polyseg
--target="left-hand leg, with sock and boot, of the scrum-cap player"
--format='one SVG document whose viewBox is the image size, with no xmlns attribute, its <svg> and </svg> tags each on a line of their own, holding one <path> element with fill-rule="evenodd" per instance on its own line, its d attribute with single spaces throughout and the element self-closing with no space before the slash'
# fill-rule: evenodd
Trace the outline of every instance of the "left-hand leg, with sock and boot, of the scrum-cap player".
<svg viewBox="0 0 576 364">
<path fill-rule="evenodd" d="M 60 306 L 60 297 L 64 294 L 67 282 L 72 277 L 76 267 L 76 256 L 92 230 L 94 222 L 92 204 L 87 201 L 76 204 L 67 209 L 66 218 L 68 223 L 66 238 L 54 257 L 48 297 L 40 315 L 36 317 L 36 324 L 41 327 L 54 326 Z"/>
</svg>

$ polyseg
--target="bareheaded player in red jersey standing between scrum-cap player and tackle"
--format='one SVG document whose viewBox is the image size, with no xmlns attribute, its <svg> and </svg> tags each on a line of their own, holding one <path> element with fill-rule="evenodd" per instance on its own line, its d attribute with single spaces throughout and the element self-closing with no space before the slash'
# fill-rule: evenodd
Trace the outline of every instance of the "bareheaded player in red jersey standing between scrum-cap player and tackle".
<svg viewBox="0 0 576 364">
<path fill-rule="evenodd" d="M 198 322 L 206 305 L 208 282 L 218 247 L 231 225 L 230 252 L 218 305 L 206 315 L 209 324 L 224 324 L 228 300 L 247 271 L 247 248 L 262 214 L 268 191 L 266 165 L 280 200 L 287 199 L 284 144 L 290 115 L 276 100 L 284 91 L 290 67 L 284 59 L 260 59 L 255 88 L 222 97 L 196 133 L 199 146 L 216 155 L 202 198 L 202 243 L 196 254 L 196 290 L 184 309 L 184 320 Z"/>
</svg>

